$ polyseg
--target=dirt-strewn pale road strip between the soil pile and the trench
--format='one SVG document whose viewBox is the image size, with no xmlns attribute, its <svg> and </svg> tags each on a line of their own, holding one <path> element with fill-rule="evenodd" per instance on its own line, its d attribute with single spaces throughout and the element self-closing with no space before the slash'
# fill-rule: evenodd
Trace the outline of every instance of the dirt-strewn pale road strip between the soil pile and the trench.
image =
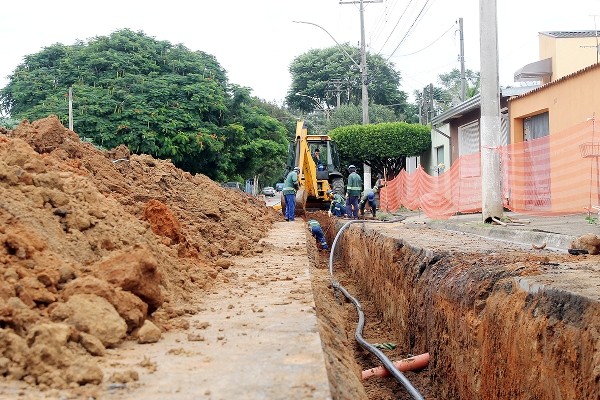
<svg viewBox="0 0 600 400">
<path fill-rule="evenodd" d="M 107 385 L 89 395 L 144 400 L 331 398 L 305 231 L 302 220 L 276 223 L 261 241 L 262 252 L 235 258 L 201 304 L 190 304 L 199 312 L 190 317 L 188 330 L 168 332 L 154 344 L 126 342 L 101 358 L 105 376 L 137 373 L 139 380 Z M 18 386 L 9 386 L 3 385 L 0 398 L 69 396 L 32 391 L 19 396 Z"/>
</svg>

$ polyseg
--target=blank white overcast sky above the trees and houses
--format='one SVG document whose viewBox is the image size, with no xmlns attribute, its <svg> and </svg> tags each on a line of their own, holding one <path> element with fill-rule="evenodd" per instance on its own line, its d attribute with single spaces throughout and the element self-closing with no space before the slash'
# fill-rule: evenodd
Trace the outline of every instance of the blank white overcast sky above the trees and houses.
<svg viewBox="0 0 600 400">
<path fill-rule="evenodd" d="M 514 72 L 539 59 L 538 32 L 600 29 L 600 0 L 497 3 L 501 86 L 518 86 Z M 1 9 L 0 87 L 28 54 L 129 28 L 212 54 L 231 83 L 282 104 L 292 60 L 313 48 L 335 46 L 320 28 L 293 21 L 320 25 L 339 43 L 360 43 L 358 5 L 338 0 L 33 0 L 3 2 Z M 479 71 L 479 0 L 365 4 L 368 51 L 394 63 L 401 89 L 412 96 L 414 90 L 437 84 L 439 74 L 460 69 L 459 18 L 466 68 Z"/>
</svg>

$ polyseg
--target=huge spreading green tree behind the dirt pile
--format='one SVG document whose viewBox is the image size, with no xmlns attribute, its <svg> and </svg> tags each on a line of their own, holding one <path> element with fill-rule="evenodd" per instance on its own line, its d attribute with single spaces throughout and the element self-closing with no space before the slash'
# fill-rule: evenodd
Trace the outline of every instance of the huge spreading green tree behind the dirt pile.
<svg viewBox="0 0 600 400">
<path fill-rule="evenodd" d="M 66 125 L 72 87 L 80 136 L 170 158 L 215 180 L 265 174 L 259 159 L 285 158 L 283 125 L 249 89 L 230 85 L 213 56 L 142 32 L 51 45 L 27 56 L 9 78 L 0 105 L 12 117 L 55 114 Z"/>
</svg>

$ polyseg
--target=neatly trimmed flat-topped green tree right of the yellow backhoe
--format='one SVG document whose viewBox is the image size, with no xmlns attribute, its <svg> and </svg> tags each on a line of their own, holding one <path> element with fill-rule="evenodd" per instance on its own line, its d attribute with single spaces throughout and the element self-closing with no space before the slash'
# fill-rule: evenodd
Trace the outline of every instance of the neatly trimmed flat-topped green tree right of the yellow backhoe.
<svg viewBox="0 0 600 400">
<path fill-rule="evenodd" d="M 406 122 L 344 126 L 333 129 L 329 135 L 346 162 L 365 163 L 375 174 L 388 179 L 405 168 L 406 157 L 417 156 L 431 147 L 429 127 Z"/>
</svg>

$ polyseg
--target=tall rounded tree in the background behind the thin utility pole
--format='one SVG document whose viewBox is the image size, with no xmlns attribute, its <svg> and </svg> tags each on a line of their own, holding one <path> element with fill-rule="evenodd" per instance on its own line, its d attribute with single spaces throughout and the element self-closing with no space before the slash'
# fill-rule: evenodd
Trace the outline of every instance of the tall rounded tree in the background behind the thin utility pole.
<svg viewBox="0 0 600 400">
<path fill-rule="evenodd" d="M 354 60 L 360 60 L 359 49 L 342 45 Z M 367 54 L 369 100 L 388 105 L 397 116 L 406 116 L 406 93 L 400 87 L 400 74 L 394 65 L 379 55 Z M 294 59 L 290 65 L 292 84 L 286 96 L 291 108 L 305 112 L 331 110 L 337 106 L 337 95 L 331 82 L 341 82 L 343 104 L 359 105 L 362 99 L 361 73 L 338 47 L 313 49 Z"/>
</svg>

